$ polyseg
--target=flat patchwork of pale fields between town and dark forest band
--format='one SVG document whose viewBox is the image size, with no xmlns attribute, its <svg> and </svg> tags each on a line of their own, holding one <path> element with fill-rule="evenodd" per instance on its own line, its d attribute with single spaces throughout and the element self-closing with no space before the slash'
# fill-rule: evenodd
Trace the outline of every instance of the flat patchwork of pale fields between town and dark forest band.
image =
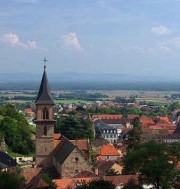
<svg viewBox="0 0 180 189">
<path fill-rule="evenodd" d="M 137 102 L 146 101 L 158 104 L 180 102 L 180 97 L 176 99 L 172 98 L 173 94 L 180 95 L 180 91 L 53 90 L 52 94 L 54 96 L 55 103 L 58 104 L 88 103 L 96 100 L 113 100 L 116 97 L 129 98 L 130 96 L 134 96 Z M 94 100 L 88 98 L 89 96 L 96 94 L 99 96 L 94 98 Z M 13 104 L 34 103 L 36 95 L 36 91 L 1 91 L 0 102 Z M 63 96 L 63 98 L 61 98 L 61 96 Z"/>
</svg>

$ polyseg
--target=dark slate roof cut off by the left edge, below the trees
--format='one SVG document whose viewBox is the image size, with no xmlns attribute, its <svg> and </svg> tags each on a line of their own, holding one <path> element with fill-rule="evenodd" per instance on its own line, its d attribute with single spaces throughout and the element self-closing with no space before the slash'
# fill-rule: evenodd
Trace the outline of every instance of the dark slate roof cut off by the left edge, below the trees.
<svg viewBox="0 0 180 189">
<path fill-rule="evenodd" d="M 0 168 L 8 168 L 16 166 L 16 160 L 3 151 L 0 151 Z"/>
</svg>

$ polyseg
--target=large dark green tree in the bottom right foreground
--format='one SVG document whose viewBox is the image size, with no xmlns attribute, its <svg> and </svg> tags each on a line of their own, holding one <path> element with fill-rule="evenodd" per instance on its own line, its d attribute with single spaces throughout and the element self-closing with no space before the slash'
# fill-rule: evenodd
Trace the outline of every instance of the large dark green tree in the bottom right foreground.
<svg viewBox="0 0 180 189">
<path fill-rule="evenodd" d="M 138 173 L 142 183 L 152 184 L 155 189 L 170 188 L 178 174 L 169 161 L 169 154 L 165 153 L 165 145 L 155 141 L 139 145 L 123 162 L 126 173 Z"/>
</svg>

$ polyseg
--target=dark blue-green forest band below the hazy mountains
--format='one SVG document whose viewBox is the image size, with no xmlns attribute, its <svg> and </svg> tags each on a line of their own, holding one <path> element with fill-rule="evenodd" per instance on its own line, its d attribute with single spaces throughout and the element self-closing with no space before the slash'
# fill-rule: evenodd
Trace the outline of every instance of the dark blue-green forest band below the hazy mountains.
<svg viewBox="0 0 180 189">
<path fill-rule="evenodd" d="M 178 82 L 62 82 L 49 80 L 53 90 L 144 90 L 144 91 L 180 91 Z M 0 90 L 38 90 L 39 81 L 0 82 Z"/>
</svg>

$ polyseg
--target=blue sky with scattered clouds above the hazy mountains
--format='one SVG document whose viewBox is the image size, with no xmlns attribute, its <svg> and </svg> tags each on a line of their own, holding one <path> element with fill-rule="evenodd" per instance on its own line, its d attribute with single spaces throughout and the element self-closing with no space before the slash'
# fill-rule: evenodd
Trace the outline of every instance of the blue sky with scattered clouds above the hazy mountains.
<svg viewBox="0 0 180 189">
<path fill-rule="evenodd" d="M 180 79 L 180 0 L 0 0 L 0 73 Z"/>
</svg>

